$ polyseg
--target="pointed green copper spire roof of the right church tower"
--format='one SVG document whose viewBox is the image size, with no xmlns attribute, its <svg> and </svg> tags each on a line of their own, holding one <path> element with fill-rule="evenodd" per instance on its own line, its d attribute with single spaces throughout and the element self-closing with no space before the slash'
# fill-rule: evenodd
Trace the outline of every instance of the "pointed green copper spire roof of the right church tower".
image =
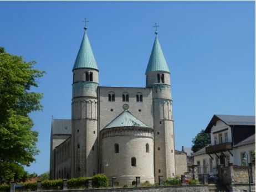
<svg viewBox="0 0 256 192">
<path fill-rule="evenodd" d="M 149 64 L 147 64 L 147 72 L 150 71 L 169 71 L 168 65 L 165 60 L 165 56 L 163 56 L 163 51 L 161 45 L 157 39 L 155 39 L 155 43 L 153 45 L 153 49 L 151 51 Z"/>
</svg>

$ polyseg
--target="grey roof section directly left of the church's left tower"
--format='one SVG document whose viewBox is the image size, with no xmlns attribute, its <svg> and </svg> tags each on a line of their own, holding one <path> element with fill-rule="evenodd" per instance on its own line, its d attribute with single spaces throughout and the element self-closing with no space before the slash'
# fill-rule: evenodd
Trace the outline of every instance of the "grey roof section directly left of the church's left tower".
<svg viewBox="0 0 256 192">
<path fill-rule="evenodd" d="M 71 134 L 71 120 L 52 120 L 52 134 Z"/>
</svg>

